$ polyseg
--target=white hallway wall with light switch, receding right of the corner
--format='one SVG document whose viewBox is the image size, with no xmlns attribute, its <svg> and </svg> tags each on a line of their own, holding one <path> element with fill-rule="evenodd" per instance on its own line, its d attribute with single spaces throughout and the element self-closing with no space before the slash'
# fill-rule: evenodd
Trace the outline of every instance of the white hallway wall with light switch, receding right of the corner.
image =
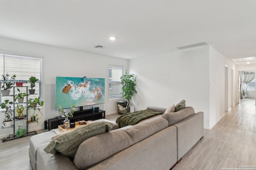
<svg viewBox="0 0 256 170">
<path fill-rule="evenodd" d="M 231 96 L 236 96 L 234 82 L 231 82 L 231 71 L 235 70 L 235 65 L 226 59 L 221 53 L 209 46 L 210 57 L 210 117 L 209 128 L 211 129 L 225 113 L 225 65 L 228 66 L 228 108 L 231 107 Z M 233 80 L 234 74 L 233 74 Z M 231 86 L 233 90 L 231 92 Z M 233 95 L 231 95 L 233 93 Z M 233 104 L 232 104 L 233 105 Z"/>
</svg>

